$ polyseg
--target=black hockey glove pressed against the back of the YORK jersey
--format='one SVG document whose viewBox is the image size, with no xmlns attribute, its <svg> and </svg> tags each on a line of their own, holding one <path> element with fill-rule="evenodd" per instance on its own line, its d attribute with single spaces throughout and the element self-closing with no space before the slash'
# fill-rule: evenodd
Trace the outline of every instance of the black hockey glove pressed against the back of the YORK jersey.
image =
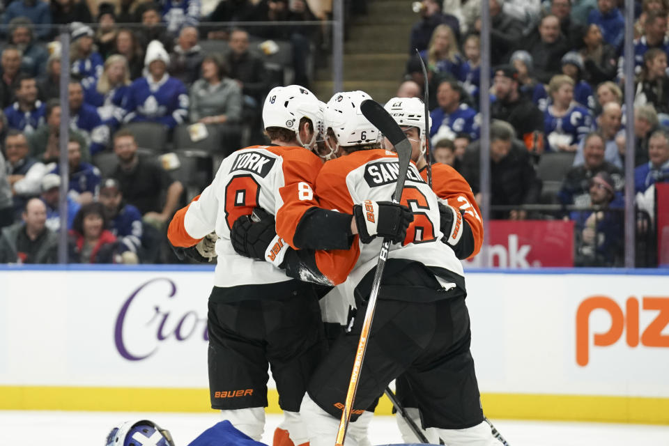
<svg viewBox="0 0 669 446">
<path fill-rule="evenodd" d="M 274 215 L 263 208 L 239 217 L 230 230 L 230 241 L 237 254 L 258 260 L 267 260 L 265 253 L 276 236 Z"/>
</svg>

